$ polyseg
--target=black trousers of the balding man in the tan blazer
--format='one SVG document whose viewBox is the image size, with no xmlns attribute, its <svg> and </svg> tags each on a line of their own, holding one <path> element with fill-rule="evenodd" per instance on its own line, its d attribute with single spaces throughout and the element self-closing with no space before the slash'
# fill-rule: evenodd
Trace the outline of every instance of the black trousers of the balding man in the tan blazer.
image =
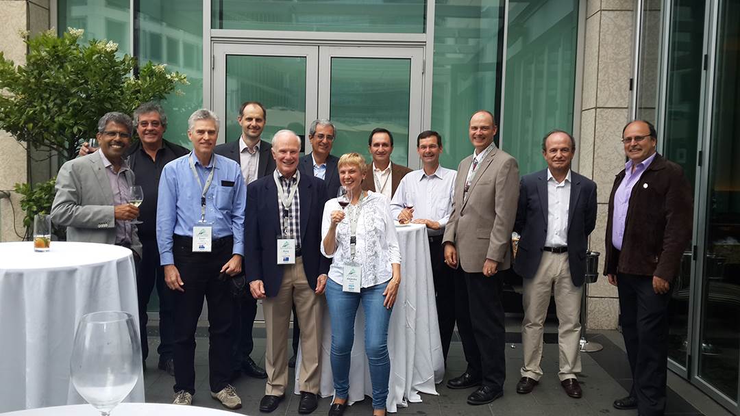
<svg viewBox="0 0 740 416">
<path fill-rule="evenodd" d="M 499 272 L 500 273 L 500 272 Z M 482 377 L 482 384 L 501 390 L 506 378 L 506 330 L 501 276 L 485 277 L 457 269 L 455 305 L 457 331 L 468 361 L 467 371 Z"/>
</svg>

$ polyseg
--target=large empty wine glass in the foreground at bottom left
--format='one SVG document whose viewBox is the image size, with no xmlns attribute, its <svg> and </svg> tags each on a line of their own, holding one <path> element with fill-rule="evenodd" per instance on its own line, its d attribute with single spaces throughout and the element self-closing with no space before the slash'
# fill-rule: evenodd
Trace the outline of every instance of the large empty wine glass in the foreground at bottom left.
<svg viewBox="0 0 740 416">
<path fill-rule="evenodd" d="M 70 360 L 72 384 L 101 416 L 131 392 L 141 372 L 141 344 L 130 313 L 82 316 Z"/>
</svg>

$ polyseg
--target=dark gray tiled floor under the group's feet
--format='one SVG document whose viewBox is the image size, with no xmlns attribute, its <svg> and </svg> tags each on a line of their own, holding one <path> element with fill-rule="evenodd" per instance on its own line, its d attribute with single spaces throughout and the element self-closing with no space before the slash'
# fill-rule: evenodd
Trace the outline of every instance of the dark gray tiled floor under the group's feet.
<svg viewBox="0 0 740 416">
<path fill-rule="evenodd" d="M 545 376 L 530 395 L 517 395 L 515 385 L 519 380 L 519 366 L 521 366 L 521 344 L 519 334 L 512 331 L 507 335 L 506 348 L 506 383 L 504 396 L 485 406 L 469 406 L 465 398 L 472 390 L 451 390 L 444 386 L 450 377 L 455 377 L 465 369 L 465 360 L 462 355 L 462 345 L 456 340 L 451 345 L 449 353 L 447 375 L 445 382 L 437 386 L 439 395 L 422 395 L 422 403 L 409 403 L 407 408 L 400 408 L 398 415 L 510 415 L 510 416 L 534 416 L 534 415 L 636 415 L 636 411 L 619 411 L 612 407 L 615 398 L 627 395 L 630 386 L 628 365 L 622 349 L 611 340 L 618 340 L 619 333 L 601 333 L 594 335 L 593 339 L 605 345 L 601 352 L 582 355 L 583 371 L 579 381 L 583 388 L 583 398 L 573 399 L 565 395 L 557 378 L 558 350 L 556 344 L 545 344 L 542 369 Z M 152 331 L 153 332 L 153 331 Z M 199 335 L 203 331 L 198 331 Z M 264 365 L 265 339 L 263 330 L 255 330 L 255 352 L 252 358 L 258 361 L 260 366 Z M 547 334 L 546 342 L 556 342 L 554 333 Z M 260 338 L 258 338 L 260 337 Z M 149 338 L 152 344 L 150 350 L 153 354 L 149 357 L 145 375 L 147 402 L 171 403 L 172 384 L 174 378 L 166 372 L 158 370 L 156 345 L 158 337 Z M 195 355 L 196 372 L 196 394 L 193 399 L 194 406 L 212 407 L 223 409 L 221 403 L 210 398 L 208 385 L 208 339 L 198 337 L 198 347 Z M 619 344 L 619 341 L 616 341 Z M 625 372 L 625 369 L 627 371 Z M 292 370 L 291 377 L 292 380 Z M 234 383 L 238 394 L 243 401 L 243 408 L 237 412 L 243 415 L 259 415 L 259 401 L 264 394 L 265 383 L 263 380 L 253 378 L 240 378 Z M 292 387 L 292 385 L 291 385 Z M 701 393 L 697 393 L 701 395 Z M 320 401 L 319 409 L 314 415 L 326 415 L 329 409 L 330 398 Z M 346 415 L 370 415 L 371 400 L 366 398 L 360 403 L 351 406 Z M 704 415 L 694 409 L 684 398 L 669 391 L 667 415 Z M 280 403 L 280 407 L 273 415 L 297 415 L 298 396 L 289 395 L 289 398 Z M 707 415 L 715 416 L 716 413 Z M 729 413 L 727 414 L 729 415 Z"/>
</svg>

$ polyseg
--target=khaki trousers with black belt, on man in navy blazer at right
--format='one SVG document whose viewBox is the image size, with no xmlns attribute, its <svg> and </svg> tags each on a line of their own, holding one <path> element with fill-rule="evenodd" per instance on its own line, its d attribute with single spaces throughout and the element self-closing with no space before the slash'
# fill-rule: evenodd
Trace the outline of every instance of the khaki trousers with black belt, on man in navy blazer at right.
<svg viewBox="0 0 740 416">
<path fill-rule="evenodd" d="M 542 333 L 548 313 L 550 294 L 554 287 L 560 350 L 560 381 L 576 378 L 581 372 L 581 294 L 583 287 L 575 287 L 571 280 L 568 253 L 542 252 L 537 272 L 524 282 L 524 321 L 522 321 L 522 347 L 524 366 L 522 377 L 539 380 L 542 377 Z"/>
</svg>

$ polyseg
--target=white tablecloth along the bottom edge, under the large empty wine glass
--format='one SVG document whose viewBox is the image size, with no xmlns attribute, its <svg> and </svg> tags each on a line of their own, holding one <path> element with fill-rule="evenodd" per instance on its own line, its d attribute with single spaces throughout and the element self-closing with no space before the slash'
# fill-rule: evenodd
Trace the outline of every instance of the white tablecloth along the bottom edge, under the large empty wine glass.
<svg viewBox="0 0 740 416">
<path fill-rule="evenodd" d="M 159 403 L 121 403 L 115 406 L 112 416 L 234 416 L 233 412 L 208 409 L 198 406 L 178 406 Z M 89 404 L 75 406 L 44 407 L 21 410 L 3 416 L 100 416 L 100 412 Z"/>
</svg>

